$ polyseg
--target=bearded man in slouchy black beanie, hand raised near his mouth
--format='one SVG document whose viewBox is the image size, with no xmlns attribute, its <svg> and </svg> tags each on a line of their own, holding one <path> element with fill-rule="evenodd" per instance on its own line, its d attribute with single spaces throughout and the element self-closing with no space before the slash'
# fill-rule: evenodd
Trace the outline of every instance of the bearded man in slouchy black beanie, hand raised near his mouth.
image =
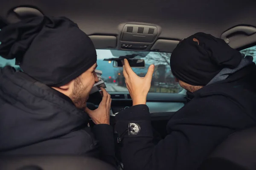
<svg viewBox="0 0 256 170">
<path fill-rule="evenodd" d="M 84 155 L 115 165 L 111 97 L 102 88 L 99 108 L 86 108 L 97 55 L 76 23 L 34 17 L 3 28 L 0 42 L 0 56 L 22 69 L 0 70 L 0 155 Z"/>
</svg>

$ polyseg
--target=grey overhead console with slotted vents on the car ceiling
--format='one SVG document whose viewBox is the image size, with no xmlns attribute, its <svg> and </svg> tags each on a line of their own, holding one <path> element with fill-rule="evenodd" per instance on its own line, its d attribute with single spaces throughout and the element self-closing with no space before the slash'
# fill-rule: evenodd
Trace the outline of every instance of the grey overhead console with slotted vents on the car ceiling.
<svg viewBox="0 0 256 170">
<path fill-rule="evenodd" d="M 118 48 L 122 50 L 150 50 L 159 35 L 156 26 L 126 24 L 122 28 Z"/>
</svg>

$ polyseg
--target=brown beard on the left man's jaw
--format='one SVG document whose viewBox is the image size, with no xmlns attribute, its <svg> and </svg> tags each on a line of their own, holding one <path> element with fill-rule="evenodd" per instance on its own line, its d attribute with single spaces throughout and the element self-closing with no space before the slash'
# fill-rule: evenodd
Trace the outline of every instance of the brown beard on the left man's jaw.
<svg viewBox="0 0 256 170">
<path fill-rule="evenodd" d="M 74 105 L 79 109 L 86 108 L 87 96 L 86 88 L 81 82 L 80 77 L 76 78 L 74 81 L 74 89 L 70 95 L 70 99 L 73 101 Z"/>
</svg>

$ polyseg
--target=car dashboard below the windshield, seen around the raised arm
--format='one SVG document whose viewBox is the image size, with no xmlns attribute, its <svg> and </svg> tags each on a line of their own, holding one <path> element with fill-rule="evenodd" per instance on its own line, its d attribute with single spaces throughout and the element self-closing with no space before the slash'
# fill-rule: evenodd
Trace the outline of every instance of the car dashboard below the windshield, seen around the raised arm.
<svg viewBox="0 0 256 170">
<path fill-rule="evenodd" d="M 109 94 L 112 98 L 110 123 L 114 128 L 116 114 L 131 107 L 132 99 L 128 92 L 109 92 Z M 87 107 L 91 110 L 96 109 L 101 99 L 99 93 L 90 95 Z M 185 103 L 186 94 L 148 93 L 146 104 L 150 111 L 151 124 L 162 139 L 167 135 L 167 122 Z"/>
</svg>

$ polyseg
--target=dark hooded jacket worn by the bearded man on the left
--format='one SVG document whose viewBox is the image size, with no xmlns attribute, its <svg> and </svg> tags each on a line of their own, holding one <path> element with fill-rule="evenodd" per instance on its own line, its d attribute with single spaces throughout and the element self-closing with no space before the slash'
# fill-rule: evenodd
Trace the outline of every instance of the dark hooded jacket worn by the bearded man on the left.
<svg viewBox="0 0 256 170">
<path fill-rule="evenodd" d="M 91 130 L 88 120 L 64 94 L 0 69 L 0 155 L 83 155 L 115 164 L 112 127 Z"/>
</svg>

